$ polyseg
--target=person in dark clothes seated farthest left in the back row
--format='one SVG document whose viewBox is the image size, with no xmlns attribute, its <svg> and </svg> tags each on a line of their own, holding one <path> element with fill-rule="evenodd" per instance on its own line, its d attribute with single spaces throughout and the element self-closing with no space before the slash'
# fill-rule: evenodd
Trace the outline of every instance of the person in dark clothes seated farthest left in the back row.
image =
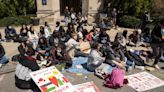
<svg viewBox="0 0 164 92">
<path fill-rule="evenodd" d="M 17 38 L 16 30 L 12 26 L 7 26 L 5 28 L 5 38 L 7 41 L 15 41 Z"/>
</svg>

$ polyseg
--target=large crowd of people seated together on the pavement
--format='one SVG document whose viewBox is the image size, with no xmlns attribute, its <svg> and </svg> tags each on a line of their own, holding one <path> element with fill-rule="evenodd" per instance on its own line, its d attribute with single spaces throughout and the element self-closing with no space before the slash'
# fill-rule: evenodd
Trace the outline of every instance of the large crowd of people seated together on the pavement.
<svg viewBox="0 0 164 92">
<path fill-rule="evenodd" d="M 112 42 L 106 29 L 99 30 L 93 27 L 92 30 L 87 30 L 83 26 L 84 24 L 80 22 L 77 28 L 74 24 L 68 23 L 65 30 L 60 22 L 56 22 L 56 28 L 52 31 L 51 27 L 45 23 L 45 26 L 40 26 L 40 30 L 36 31 L 32 25 L 29 28 L 22 25 L 20 34 L 17 34 L 14 28 L 8 26 L 5 29 L 6 39 L 14 40 L 15 35 L 17 35 L 18 42 L 20 42 L 18 46 L 20 59 L 15 76 L 16 85 L 19 88 L 24 88 L 21 83 L 23 81 L 29 84 L 27 88 L 31 88 L 32 81 L 28 74 L 25 74 L 26 77 L 21 76 L 21 68 L 26 67 L 28 69 L 27 73 L 62 63 L 66 63 L 65 68 L 69 68 L 72 66 L 73 59 L 79 56 L 92 57 L 91 66 L 87 66 L 90 71 L 95 71 L 102 63 L 126 69 L 127 61 L 135 63 L 142 61 L 140 54 L 128 51 L 126 46 L 137 46 L 136 44 L 141 39 L 144 39 L 143 42 L 150 41 L 150 35 L 147 34 L 149 29 L 146 29 L 146 33 L 142 34 L 134 31 L 129 36 L 126 30 L 118 32 Z M 89 43 L 88 48 L 90 48 L 87 53 L 81 48 L 83 47 L 81 45 L 85 42 Z M 138 65 L 145 66 L 144 62 Z"/>
</svg>

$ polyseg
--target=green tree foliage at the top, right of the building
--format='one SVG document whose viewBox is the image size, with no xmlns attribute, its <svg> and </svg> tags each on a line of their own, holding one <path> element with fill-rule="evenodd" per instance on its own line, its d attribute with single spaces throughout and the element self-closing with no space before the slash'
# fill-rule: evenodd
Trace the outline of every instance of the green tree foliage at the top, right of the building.
<svg viewBox="0 0 164 92">
<path fill-rule="evenodd" d="M 154 0 L 104 0 L 108 3 L 108 8 L 111 11 L 116 8 L 122 11 L 124 14 L 138 16 L 145 10 L 149 11 L 152 9 Z"/>
</svg>

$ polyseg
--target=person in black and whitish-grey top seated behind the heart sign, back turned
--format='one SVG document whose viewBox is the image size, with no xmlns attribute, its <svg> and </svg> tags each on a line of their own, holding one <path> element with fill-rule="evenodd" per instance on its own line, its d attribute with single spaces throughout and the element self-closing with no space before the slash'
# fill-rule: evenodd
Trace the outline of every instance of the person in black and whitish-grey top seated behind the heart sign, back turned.
<svg viewBox="0 0 164 92">
<path fill-rule="evenodd" d="M 35 59 L 34 49 L 26 50 L 27 56 L 22 56 L 16 66 L 15 85 L 20 89 L 32 89 L 39 92 L 39 88 L 33 82 L 30 73 L 39 70 L 39 66 Z M 25 72 L 26 71 L 26 72 Z"/>
</svg>

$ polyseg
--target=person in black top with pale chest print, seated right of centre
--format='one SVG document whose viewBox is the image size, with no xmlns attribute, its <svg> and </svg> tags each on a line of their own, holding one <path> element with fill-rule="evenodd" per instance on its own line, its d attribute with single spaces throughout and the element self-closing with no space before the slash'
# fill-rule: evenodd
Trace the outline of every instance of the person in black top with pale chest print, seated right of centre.
<svg viewBox="0 0 164 92">
<path fill-rule="evenodd" d="M 101 44 L 108 44 L 110 43 L 110 37 L 106 33 L 106 30 L 100 29 L 100 35 L 99 35 L 99 43 Z"/>
</svg>

